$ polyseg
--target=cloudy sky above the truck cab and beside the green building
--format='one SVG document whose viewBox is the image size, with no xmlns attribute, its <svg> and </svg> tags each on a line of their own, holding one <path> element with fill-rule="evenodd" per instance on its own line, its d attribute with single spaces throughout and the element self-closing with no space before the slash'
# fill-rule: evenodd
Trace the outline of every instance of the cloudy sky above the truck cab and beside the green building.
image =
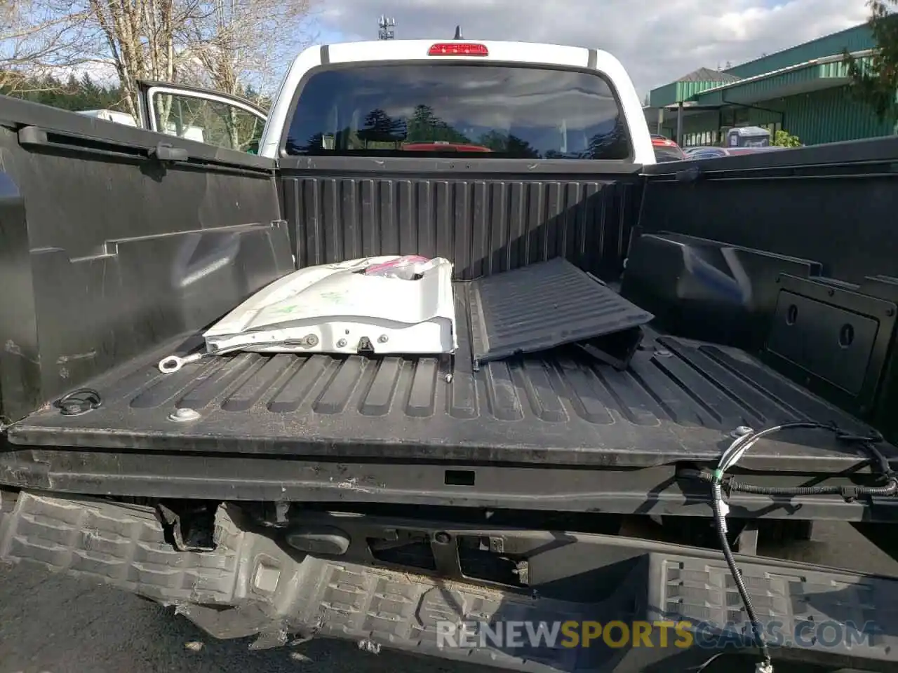
<svg viewBox="0 0 898 673">
<path fill-rule="evenodd" d="M 600 48 L 621 59 L 640 96 L 699 67 L 762 57 L 862 23 L 866 0 L 322 0 L 317 43 L 377 38 L 511 39 Z"/>
</svg>

